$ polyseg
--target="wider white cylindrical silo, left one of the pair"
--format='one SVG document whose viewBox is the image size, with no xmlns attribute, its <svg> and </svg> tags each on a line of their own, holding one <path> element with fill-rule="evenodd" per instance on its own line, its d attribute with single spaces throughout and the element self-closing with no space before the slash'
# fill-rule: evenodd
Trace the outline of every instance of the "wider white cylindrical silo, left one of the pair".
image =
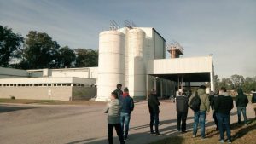
<svg viewBox="0 0 256 144">
<path fill-rule="evenodd" d="M 96 101 L 108 101 L 116 84 L 125 82 L 125 34 L 105 31 L 99 35 Z"/>
</svg>

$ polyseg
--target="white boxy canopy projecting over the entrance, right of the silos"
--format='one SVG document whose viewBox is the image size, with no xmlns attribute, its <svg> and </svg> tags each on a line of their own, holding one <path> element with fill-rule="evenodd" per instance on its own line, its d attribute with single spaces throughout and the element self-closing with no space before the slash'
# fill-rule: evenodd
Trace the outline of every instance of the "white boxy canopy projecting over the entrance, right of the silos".
<svg viewBox="0 0 256 144">
<path fill-rule="evenodd" d="M 147 74 L 175 82 L 211 82 L 214 90 L 212 56 L 150 60 Z"/>
</svg>

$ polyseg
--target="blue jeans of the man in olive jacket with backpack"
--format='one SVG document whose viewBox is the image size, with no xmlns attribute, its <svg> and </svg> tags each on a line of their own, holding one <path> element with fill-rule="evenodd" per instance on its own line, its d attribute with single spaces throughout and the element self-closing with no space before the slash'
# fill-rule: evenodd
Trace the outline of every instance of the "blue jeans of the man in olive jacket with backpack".
<svg viewBox="0 0 256 144">
<path fill-rule="evenodd" d="M 206 125 L 206 111 L 194 112 L 194 125 L 193 125 L 193 135 L 197 133 L 197 126 L 200 124 L 201 127 L 201 137 L 205 138 L 205 125 Z"/>
</svg>

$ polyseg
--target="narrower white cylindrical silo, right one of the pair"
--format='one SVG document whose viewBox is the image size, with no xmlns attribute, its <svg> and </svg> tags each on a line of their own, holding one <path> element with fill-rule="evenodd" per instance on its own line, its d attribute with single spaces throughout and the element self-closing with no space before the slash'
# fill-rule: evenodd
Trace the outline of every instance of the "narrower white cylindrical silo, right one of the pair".
<svg viewBox="0 0 256 144">
<path fill-rule="evenodd" d="M 146 64 L 143 59 L 145 32 L 134 28 L 128 32 L 129 92 L 135 99 L 146 96 Z"/>
</svg>

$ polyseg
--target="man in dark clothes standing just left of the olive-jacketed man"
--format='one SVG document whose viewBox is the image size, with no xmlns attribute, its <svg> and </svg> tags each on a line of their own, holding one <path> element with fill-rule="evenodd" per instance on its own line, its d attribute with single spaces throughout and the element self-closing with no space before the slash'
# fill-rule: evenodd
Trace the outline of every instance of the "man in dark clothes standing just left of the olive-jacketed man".
<svg viewBox="0 0 256 144">
<path fill-rule="evenodd" d="M 177 130 L 186 132 L 186 120 L 188 116 L 189 109 L 189 99 L 185 96 L 185 93 L 182 92 L 181 95 L 178 95 L 176 98 L 176 110 L 177 110 Z M 182 121 L 182 126 L 180 126 Z"/>
</svg>

